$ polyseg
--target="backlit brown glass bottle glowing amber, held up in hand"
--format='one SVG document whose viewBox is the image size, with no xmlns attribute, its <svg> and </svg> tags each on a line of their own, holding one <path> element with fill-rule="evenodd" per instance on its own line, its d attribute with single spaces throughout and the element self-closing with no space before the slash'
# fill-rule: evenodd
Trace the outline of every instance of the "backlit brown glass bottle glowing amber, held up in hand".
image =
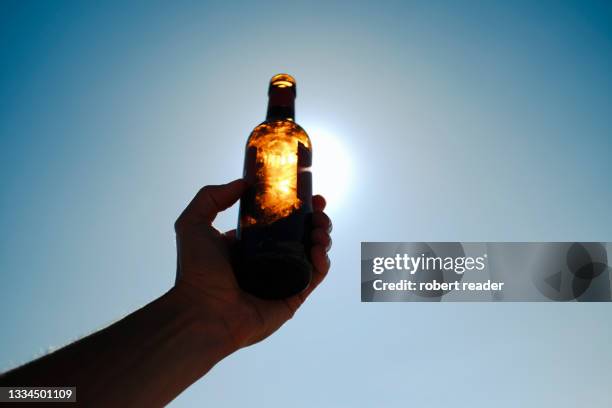
<svg viewBox="0 0 612 408">
<path fill-rule="evenodd" d="M 283 299 L 310 284 L 312 146 L 295 123 L 295 79 L 270 80 L 266 120 L 246 144 L 240 200 L 236 277 L 242 289 L 264 299 Z"/>
</svg>

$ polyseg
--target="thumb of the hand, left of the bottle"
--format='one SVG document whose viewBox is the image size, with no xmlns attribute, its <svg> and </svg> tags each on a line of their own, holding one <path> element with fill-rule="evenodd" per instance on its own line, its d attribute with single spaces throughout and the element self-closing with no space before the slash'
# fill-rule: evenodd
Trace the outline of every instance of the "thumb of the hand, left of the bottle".
<svg viewBox="0 0 612 408">
<path fill-rule="evenodd" d="M 246 183 L 242 179 L 228 184 L 203 187 L 180 215 L 176 221 L 176 227 L 200 223 L 211 224 L 217 213 L 238 201 L 245 189 Z"/>
</svg>

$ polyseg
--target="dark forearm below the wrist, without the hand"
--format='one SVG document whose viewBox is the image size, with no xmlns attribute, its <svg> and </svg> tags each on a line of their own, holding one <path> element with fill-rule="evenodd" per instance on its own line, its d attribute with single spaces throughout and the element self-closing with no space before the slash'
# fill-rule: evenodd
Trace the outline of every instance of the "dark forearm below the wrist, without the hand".
<svg viewBox="0 0 612 408">
<path fill-rule="evenodd" d="M 87 405 L 157 406 L 234 351 L 221 319 L 171 291 L 119 322 L 0 377 L 15 386 L 76 386 Z"/>
</svg>

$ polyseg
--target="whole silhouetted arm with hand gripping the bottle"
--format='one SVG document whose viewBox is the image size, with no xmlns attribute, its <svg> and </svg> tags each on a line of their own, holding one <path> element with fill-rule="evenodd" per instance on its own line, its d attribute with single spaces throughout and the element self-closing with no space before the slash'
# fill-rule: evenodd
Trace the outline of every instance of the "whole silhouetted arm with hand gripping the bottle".
<svg viewBox="0 0 612 408">
<path fill-rule="evenodd" d="M 242 195 L 242 180 L 204 187 L 176 221 L 175 286 L 112 325 L 0 374 L 2 386 L 76 386 L 87 407 L 163 406 L 241 347 L 293 316 L 329 270 L 331 222 L 313 197 L 311 286 L 285 300 L 261 300 L 238 287 L 230 262 L 234 232 L 212 221 Z"/>
</svg>

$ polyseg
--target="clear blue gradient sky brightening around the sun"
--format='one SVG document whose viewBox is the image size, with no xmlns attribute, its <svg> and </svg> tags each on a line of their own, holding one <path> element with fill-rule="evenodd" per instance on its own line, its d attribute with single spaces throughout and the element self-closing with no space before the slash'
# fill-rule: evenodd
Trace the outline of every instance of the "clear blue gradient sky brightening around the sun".
<svg viewBox="0 0 612 408">
<path fill-rule="evenodd" d="M 433 3 L 2 0 L 0 370 L 170 288 L 289 72 L 350 157 L 329 278 L 172 405 L 608 407 L 610 304 L 360 303 L 360 241 L 612 241 L 610 3 Z"/>
</svg>

